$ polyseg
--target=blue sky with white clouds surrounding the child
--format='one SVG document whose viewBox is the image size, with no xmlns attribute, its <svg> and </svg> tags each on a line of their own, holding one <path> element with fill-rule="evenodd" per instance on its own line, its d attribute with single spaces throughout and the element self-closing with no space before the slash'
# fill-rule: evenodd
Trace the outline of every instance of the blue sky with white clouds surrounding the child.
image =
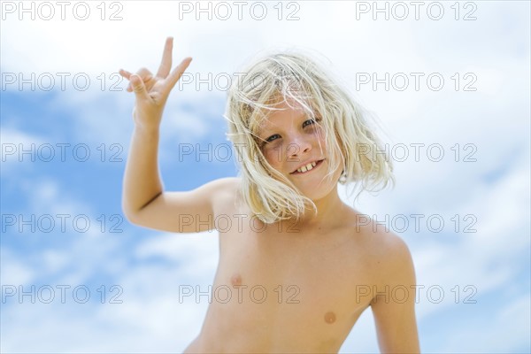
<svg viewBox="0 0 531 354">
<path fill-rule="evenodd" d="M 170 35 L 174 64 L 193 61 L 161 126 L 166 190 L 237 174 L 227 77 L 261 50 L 312 50 L 389 144 L 396 188 L 355 206 L 412 251 L 421 350 L 531 351 L 529 2 L 417 18 L 379 2 L 387 19 L 354 1 L 243 2 L 240 18 L 232 2 L 68 2 L 64 19 L 20 4 L 0 2 L 2 352 L 181 352 L 198 335 L 208 299 L 180 286 L 208 290 L 217 232 L 135 227 L 120 207 L 134 96 L 117 72 L 156 72 Z M 378 352 L 371 311 L 341 352 Z"/>
</svg>

